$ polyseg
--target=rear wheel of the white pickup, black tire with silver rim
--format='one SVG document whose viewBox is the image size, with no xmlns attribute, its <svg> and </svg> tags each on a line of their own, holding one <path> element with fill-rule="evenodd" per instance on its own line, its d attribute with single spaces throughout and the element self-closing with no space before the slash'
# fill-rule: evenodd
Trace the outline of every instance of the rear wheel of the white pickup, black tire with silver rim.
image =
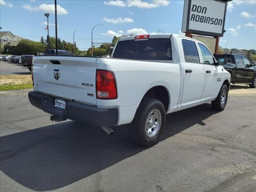
<svg viewBox="0 0 256 192">
<path fill-rule="evenodd" d="M 141 102 L 130 125 L 130 136 L 140 146 L 152 146 L 159 142 L 159 136 L 164 129 L 165 120 L 164 104 L 157 99 L 146 98 Z M 148 121 L 147 125 L 146 121 Z M 148 126 L 151 128 L 147 129 Z"/>
</svg>

